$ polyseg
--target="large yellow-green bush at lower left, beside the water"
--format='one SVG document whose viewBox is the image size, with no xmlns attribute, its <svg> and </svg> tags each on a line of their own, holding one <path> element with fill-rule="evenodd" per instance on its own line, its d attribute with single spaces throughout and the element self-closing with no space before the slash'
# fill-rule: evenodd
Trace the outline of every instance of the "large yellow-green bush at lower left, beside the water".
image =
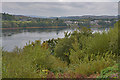
<svg viewBox="0 0 120 80">
<path fill-rule="evenodd" d="M 45 77 L 44 69 L 59 71 L 66 63 L 56 59 L 42 48 L 40 41 L 27 44 L 21 53 L 3 52 L 3 77 Z"/>
</svg>

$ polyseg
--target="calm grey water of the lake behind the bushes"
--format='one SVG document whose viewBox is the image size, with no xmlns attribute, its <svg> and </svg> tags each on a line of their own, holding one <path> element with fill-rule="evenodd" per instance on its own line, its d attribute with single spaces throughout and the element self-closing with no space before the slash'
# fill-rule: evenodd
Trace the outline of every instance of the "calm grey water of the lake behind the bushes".
<svg viewBox="0 0 120 80">
<path fill-rule="evenodd" d="M 2 47 L 4 50 L 12 51 L 16 46 L 23 48 L 26 43 L 35 40 L 49 40 L 52 38 L 63 38 L 64 32 L 73 32 L 75 29 L 28 29 L 28 30 L 4 30 L 2 32 Z M 93 33 L 103 29 L 92 29 Z"/>
</svg>

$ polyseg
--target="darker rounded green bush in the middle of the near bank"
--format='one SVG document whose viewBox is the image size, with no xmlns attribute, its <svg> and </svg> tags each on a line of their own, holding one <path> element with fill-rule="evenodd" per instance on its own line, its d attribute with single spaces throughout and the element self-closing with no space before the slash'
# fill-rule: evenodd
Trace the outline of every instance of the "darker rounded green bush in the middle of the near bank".
<svg viewBox="0 0 120 80">
<path fill-rule="evenodd" d="M 72 39 L 69 38 L 70 33 L 65 33 L 65 38 L 59 40 L 58 44 L 55 46 L 55 56 L 59 57 L 63 61 L 69 63 L 69 52 L 72 48 Z"/>
</svg>

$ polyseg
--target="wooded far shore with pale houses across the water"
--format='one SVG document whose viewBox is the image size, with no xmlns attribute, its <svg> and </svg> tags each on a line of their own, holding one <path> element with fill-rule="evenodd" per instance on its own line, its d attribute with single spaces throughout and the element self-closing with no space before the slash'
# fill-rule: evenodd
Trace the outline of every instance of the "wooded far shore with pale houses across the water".
<svg viewBox="0 0 120 80">
<path fill-rule="evenodd" d="M 75 17 L 75 16 L 74 16 Z M 114 27 L 116 18 L 94 19 L 94 18 L 39 18 L 24 15 L 12 15 L 2 13 L 2 26 L 5 28 L 68 28 L 68 27 L 97 27 L 109 28 Z"/>
</svg>

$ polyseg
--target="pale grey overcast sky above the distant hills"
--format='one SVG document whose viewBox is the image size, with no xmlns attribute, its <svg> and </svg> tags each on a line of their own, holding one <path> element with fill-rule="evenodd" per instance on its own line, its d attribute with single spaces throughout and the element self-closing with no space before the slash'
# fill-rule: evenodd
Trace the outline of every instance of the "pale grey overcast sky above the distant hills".
<svg viewBox="0 0 120 80">
<path fill-rule="evenodd" d="M 51 1 L 51 2 L 50 2 Z M 2 12 L 34 16 L 118 15 L 118 0 L 4 0 Z"/>
</svg>

